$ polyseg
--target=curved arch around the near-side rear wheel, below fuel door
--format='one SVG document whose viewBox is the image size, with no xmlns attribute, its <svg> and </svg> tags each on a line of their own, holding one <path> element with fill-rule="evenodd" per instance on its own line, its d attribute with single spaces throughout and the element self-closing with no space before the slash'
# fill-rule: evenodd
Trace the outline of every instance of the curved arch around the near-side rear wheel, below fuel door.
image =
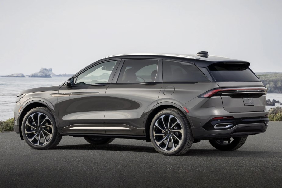
<svg viewBox="0 0 282 188">
<path fill-rule="evenodd" d="M 161 110 L 167 109 L 167 108 L 176 108 L 176 109 L 180 110 L 184 114 L 184 116 L 187 118 L 189 124 L 191 126 L 193 126 L 189 115 L 187 114 L 187 112 L 183 108 L 181 108 L 181 106 L 179 106 L 179 105 L 177 105 L 175 103 L 172 103 L 172 102 L 161 102 L 161 103 L 158 103 L 157 105 L 153 106 L 149 110 L 149 112 L 146 114 L 144 122 L 143 122 L 143 131 L 144 131 L 144 134 L 146 136 L 146 141 L 147 142 L 151 141 L 151 139 L 150 139 L 150 125 L 151 125 L 151 122 L 152 122 L 153 118 L 155 117 L 155 115 L 158 112 L 160 112 Z"/>
</svg>

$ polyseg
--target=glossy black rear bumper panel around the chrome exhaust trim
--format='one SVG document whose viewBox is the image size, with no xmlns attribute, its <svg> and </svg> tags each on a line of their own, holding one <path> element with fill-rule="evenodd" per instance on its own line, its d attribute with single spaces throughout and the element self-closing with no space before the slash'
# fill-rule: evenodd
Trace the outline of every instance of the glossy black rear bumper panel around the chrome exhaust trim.
<svg viewBox="0 0 282 188">
<path fill-rule="evenodd" d="M 256 117 L 256 118 L 232 118 L 232 119 L 212 119 L 207 122 L 203 128 L 205 130 L 227 130 L 232 127 L 240 124 L 253 124 L 253 123 L 264 123 L 268 126 L 269 119 L 268 117 Z M 227 126 L 227 127 L 225 127 Z M 217 128 L 216 128 L 217 127 Z"/>
</svg>

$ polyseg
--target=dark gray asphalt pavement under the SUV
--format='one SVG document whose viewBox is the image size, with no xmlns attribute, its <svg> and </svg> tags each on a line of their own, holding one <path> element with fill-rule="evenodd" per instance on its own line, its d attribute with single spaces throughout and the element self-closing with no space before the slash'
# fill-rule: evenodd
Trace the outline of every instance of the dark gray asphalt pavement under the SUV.
<svg viewBox="0 0 282 188">
<path fill-rule="evenodd" d="M 282 187 L 282 122 L 236 151 L 202 140 L 182 156 L 141 140 L 94 146 L 71 136 L 34 150 L 16 133 L 0 133 L 0 187 Z"/>
</svg>

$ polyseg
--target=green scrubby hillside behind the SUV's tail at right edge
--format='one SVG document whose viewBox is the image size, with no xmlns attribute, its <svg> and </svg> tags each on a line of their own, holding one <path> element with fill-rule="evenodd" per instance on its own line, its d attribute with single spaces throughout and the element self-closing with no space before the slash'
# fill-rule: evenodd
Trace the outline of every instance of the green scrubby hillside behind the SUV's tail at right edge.
<svg viewBox="0 0 282 188">
<path fill-rule="evenodd" d="M 256 73 L 257 74 L 257 73 Z M 282 73 L 257 74 L 270 93 L 282 93 Z"/>
</svg>

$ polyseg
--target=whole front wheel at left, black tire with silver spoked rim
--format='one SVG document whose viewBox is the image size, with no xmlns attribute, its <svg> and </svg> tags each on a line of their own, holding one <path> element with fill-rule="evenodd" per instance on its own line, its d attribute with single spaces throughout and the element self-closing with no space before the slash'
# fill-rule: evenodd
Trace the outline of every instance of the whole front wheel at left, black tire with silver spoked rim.
<svg viewBox="0 0 282 188">
<path fill-rule="evenodd" d="M 23 139 L 34 149 L 49 149 L 62 139 L 52 112 L 45 107 L 31 109 L 23 118 Z"/>
</svg>

